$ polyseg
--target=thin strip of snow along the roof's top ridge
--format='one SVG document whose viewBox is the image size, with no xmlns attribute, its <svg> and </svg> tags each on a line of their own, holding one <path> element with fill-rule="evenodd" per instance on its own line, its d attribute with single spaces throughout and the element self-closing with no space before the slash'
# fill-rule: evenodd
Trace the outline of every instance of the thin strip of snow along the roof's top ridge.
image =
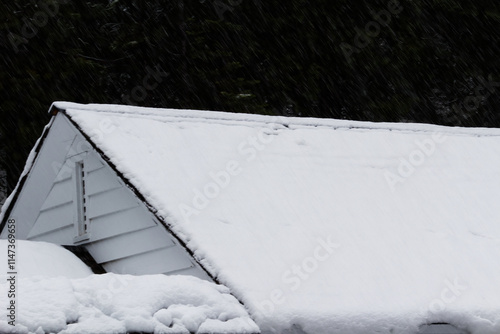
<svg viewBox="0 0 500 334">
<path fill-rule="evenodd" d="M 332 127 L 335 129 L 359 129 L 359 130 L 395 130 L 408 132 L 441 132 L 456 135 L 470 136 L 500 136 L 500 128 L 484 127 L 451 127 L 444 125 L 426 124 L 426 123 L 390 123 L 390 122 L 369 122 L 352 121 L 330 118 L 312 118 L 312 117 L 288 117 L 288 116 L 269 116 L 260 114 L 234 113 L 225 111 L 193 110 L 193 109 L 171 109 L 155 107 L 137 107 L 128 105 L 113 104 L 79 104 L 73 102 L 58 101 L 54 102 L 49 109 L 76 109 L 90 110 L 94 112 L 108 112 L 117 114 L 135 114 L 157 116 L 164 118 L 181 118 L 184 120 L 211 120 L 216 122 L 249 122 L 249 123 L 276 123 L 286 127 Z"/>
</svg>

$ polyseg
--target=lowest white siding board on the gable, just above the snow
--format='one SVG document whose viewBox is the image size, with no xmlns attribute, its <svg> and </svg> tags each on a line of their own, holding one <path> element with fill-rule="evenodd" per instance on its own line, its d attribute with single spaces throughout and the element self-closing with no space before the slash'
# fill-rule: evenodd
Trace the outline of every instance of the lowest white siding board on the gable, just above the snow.
<svg viewBox="0 0 500 334">
<path fill-rule="evenodd" d="M 104 263 L 106 271 L 133 275 L 159 274 L 194 267 L 180 247 L 158 249 Z"/>
</svg>

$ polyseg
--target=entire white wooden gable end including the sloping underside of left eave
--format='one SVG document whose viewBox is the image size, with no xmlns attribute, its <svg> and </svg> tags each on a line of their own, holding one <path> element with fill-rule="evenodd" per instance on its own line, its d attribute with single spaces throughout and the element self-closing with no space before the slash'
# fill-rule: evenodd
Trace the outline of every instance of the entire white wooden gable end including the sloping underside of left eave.
<svg viewBox="0 0 500 334">
<path fill-rule="evenodd" d="M 210 280 L 63 114 L 55 117 L 13 208 L 19 239 L 74 244 L 78 196 L 73 175 L 79 160 L 84 163 L 88 240 L 78 244 L 106 270 Z"/>
</svg>

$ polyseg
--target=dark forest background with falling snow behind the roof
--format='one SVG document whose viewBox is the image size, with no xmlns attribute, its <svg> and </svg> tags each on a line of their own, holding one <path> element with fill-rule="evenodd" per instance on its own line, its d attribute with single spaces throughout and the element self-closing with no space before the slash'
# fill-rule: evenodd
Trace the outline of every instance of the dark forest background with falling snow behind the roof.
<svg viewBox="0 0 500 334">
<path fill-rule="evenodd" d="M 60 100 L 500 127 L 498 1 L 400 7 L 387 18 L 389 1 L 2 1 L 0 197 Z"/>
</svg>

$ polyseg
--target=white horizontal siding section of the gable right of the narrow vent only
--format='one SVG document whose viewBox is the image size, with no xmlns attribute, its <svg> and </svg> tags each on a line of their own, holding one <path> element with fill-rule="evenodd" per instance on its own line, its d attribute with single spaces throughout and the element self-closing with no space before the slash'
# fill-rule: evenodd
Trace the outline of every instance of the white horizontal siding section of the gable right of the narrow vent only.
<svg viewBox="0 0 500 334">
<path fill-rule="evenodd" d="M 173 272 L 210 280 L 116 173 L 97 161 L 95 152 L 85 158 L 90 239 L 83 243 L 97 263 L 118 273 Z"/>
</svg>

